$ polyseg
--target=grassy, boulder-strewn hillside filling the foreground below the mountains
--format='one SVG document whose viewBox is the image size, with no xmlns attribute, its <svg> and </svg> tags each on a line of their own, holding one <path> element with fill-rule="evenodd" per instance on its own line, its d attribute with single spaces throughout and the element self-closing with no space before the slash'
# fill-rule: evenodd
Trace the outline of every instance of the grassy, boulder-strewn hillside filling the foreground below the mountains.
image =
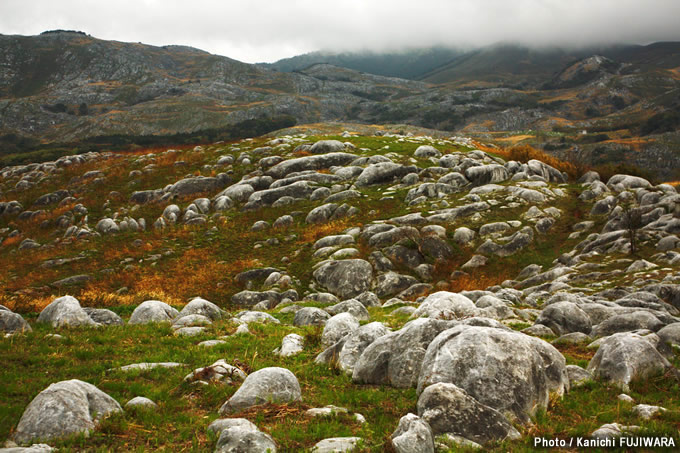
<svg viewBox="0 0 680 453">
<path fill-rule="evenodd" d="M 372 129 L 0 169 L 0 451 L 677 446 L 676 188 Z"/>
</svg>

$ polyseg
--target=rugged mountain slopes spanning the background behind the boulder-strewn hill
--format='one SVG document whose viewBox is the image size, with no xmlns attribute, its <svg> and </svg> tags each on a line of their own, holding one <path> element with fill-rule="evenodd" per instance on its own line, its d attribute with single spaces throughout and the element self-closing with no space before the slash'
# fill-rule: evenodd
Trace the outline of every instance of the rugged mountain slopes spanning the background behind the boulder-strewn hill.
<svg viewBox="0 0 680 453">
<path fill-rule="evenodd" d="M 420 49 L 364 54 L 354 60 L 361 69 L 312 57 L 280 72 L 185 46 L 68 31 L 0 35 L 0 158 L 21 161 L 36 143 L 102 149 L 153 137 L 168 143 L 176 134 L 205 143 L 342 121 L 511 136 L 511 144 L 528 140 L 597 161 L 628 156 L 666 173 L 663 162 L 680 161 L 680 43 Z M 384 74 L 369 72 L 369 63 Z"/>
</svg>

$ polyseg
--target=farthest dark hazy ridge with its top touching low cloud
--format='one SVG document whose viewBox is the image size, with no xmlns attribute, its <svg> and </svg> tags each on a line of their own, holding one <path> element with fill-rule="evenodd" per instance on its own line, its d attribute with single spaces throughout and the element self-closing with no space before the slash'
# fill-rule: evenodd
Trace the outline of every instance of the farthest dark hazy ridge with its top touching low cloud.
<svg viewBox="0 0 680 453">
<path fill-rule="evenodd" d="M 572 50 L 499 43 L 473 50 L 440 46 L 402 52 L 326 51 L 311 52 L 261 66 L 293 72 L 326 63 L 433 84 L 463 86 L 472 83 L 480 87 L 503 85 L 530 88 L 542 85 L 566 66 L 592 55 L 602 55 L 624 63 L 672 69 L 680 66 L 680 43 L 610 45 Z"/>
</svg>

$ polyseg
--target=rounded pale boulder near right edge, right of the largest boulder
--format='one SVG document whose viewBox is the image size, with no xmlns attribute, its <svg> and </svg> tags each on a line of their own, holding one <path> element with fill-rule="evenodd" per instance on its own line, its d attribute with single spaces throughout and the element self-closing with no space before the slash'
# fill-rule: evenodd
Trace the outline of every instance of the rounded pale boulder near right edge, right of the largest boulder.
<svg viewBox="0 0 680 453">
<path fill-rule="evenodd" d="M 611 382 L 624 391 L 633 379 L 643 379 L 663 372 L 671 364 L 654 345 L 635 333 L 615 333 L 602 341 L 588 363 L 595 379 Z"/>
</svg>

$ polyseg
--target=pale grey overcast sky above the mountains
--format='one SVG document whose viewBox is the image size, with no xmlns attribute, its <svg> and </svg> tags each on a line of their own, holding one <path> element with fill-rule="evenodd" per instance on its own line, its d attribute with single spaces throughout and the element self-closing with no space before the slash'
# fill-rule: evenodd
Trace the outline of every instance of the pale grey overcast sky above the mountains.
<svg viewBox="0 0 680 453">
<path fill-rule="evenodd" d="M 0 0 L 0 34 L 53 29 L 254 63 L 322 49 L 680 41 L 680 0 Z"/>
</svg>

